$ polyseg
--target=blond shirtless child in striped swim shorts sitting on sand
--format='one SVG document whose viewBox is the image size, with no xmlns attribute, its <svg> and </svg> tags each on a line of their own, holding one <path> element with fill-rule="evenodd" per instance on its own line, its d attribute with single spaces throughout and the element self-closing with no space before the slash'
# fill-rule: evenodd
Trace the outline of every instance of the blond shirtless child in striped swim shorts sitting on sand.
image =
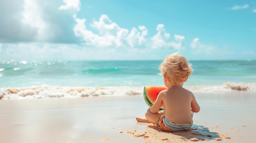
<svg viewBox="0 0 256 143">
<path fill-rule="evenodd" d="M 168 132 L 189 130 L 193 124 L 193 112 L 200 111 L 193 93 L 182 87 L 193 72 L 191 63 L 182 55 L 173 53 L 166 56 L 159 70 L 168 89 L 158 94 L 155 103 L 146 111 L 146 118 L 136 120 L 156 124 Z M 162 102 L 164 112 L 159 111 Z"/>
</svg>

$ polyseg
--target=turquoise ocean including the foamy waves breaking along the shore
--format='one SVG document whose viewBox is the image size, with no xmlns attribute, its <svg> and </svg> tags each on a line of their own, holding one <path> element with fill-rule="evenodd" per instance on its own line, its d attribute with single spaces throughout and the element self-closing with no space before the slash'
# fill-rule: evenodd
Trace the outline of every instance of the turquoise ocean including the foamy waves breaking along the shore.
<svg viewBox="0 0 256 143">
<path fill-rule="evenodd" d="M 70 88 L 90 87 L 90 93 L 84 95 L 80 88 L 75 90 L 79 92 L 78 96 L 140 94 L 141 87 L 164 86 L 162 76 L 157 74 L 161 62 L 1 60 L 0 92 L 2 97 L 18 93 L 22 97 L 40 94 L 46 97 L 65 97 L 71 96 L 70 92 L 66 95 L 66 90 Z M 226 88 L 256 90 L 256 61 L 190 62 L 194 71 L 184 86 L 195 92 L 224 91 Z M 23 90 L 19 89 L 17 93 L 12 93 L 9 88 L 24 88 L 26 91 L 21 93 Z M 44 88 L 44 93 L 38 91 L 39 88 Z M 94 90 L 100 91 L 95 94 Z M 77 94 L 72 93 L 74 95 Z"/>
</svg>

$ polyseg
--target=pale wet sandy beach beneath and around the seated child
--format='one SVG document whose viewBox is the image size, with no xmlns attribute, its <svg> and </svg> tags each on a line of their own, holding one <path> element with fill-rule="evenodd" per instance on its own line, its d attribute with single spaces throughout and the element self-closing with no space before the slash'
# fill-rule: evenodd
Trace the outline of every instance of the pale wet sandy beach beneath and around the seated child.
<svg viewBox="0 0 256 143">
<path fill-rule="evenodd" d="M 254 141 L 256 92 L 195 93 L 192 130 L 168 133 L 137 123 L 142 95 L 0 100 L 1 143 L 170 143 Z M 230 138 L 230 139 L 229 139 Z M 196 140 L 196 139 L 195 139 Z"/>
</svg>

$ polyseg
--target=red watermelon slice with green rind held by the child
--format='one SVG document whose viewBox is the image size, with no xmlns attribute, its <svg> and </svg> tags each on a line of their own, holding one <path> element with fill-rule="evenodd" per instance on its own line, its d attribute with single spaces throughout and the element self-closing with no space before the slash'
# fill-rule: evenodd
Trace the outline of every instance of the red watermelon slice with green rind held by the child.
<svg viewBox="0 0 256 143">
<path fill-rule="evenodd" d="M 166 89 L 166 87 L 145 86 L 143 96 L 148 106 L 151 107 L 157 99 L 157 95 L 159 94 L 159 92 Z M 164 110 L 164 103 L 162 103 L 160 110 Z"/>
</svg>

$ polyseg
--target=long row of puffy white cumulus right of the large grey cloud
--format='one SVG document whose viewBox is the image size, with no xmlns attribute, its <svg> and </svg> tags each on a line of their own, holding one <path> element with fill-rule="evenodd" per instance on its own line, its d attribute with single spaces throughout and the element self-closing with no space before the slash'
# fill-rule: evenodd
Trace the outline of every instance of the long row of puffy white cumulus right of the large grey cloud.
<svg viewBox="0 0 256 143">
<path fill-rule="evenodd" d="M 86 45 L 99 47 L 149 47 L 149 48 L 176 48 L 182 47 L 184 36 L 174 35 L 175 41 L 170 40 L 170 34 L 165 32 L 164 24 L 157 25 L 157 34 L 147 38 L 148 29 L 146 26 L 133 27 L 130 31 L 121 28 L 117 23 L 112 22 L 108 15 L 101 15 L 99 21 L 94 20 L 90 26 L 98 31 L 93 33 L 85 25 L 85 19 L 77 18 L 74 15 L 76 25 L 74 33 L 81 37 Z"/>
</svg>

